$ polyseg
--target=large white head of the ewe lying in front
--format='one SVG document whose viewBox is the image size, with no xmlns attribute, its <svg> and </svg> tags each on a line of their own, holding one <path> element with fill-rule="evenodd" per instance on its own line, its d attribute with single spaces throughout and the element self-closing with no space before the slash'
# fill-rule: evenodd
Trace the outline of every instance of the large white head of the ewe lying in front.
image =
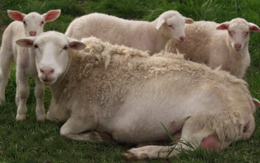
<svg viewBox="0 0 260 163">
<path fill-rule="evenodd" d="M 34 47 L 36 69 L 40 80 L 52 85 L 62 76 L 69 63 L 69 51 L 82 50 L 85 44 L 74 38 L 68 38 L 56 31 L 48 31 L 39 36 L 21 38 L 16 43 L 24 48 Z"/>
</svg>

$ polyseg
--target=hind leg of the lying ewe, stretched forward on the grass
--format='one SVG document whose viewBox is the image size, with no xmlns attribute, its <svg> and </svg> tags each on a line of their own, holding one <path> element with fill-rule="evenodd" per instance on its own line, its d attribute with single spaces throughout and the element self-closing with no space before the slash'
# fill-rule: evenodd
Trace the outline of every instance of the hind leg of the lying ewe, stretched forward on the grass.
<svg viewBox="0 0 260 163">
<path fill-rule="evenodd" d="M 141 148 L 132 148 L 123 153 L 126 160 L 144 160 L 151 158 L 165 158 L 178 155 L 181 150 L 193 150 L 202 146 L 208 149 L 217 149 L 220 142 L 217 136 L 212 135 L 210 129 L 199 129 L 194 126 L 196 118 L 189 118 L 182 128 L 182 138 L 174 146 L 144 146 Z M 187 141 L 190 146 L 187 146 Z"/>
</svg>

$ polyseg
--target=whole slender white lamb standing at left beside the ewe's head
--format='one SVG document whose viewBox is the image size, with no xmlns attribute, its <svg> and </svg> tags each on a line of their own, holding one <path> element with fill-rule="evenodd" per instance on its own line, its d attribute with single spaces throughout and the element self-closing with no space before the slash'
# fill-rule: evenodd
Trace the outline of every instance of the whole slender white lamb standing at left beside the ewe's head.
<svg viewBox="0 0 260 163">
<path fill-rule="evenodd" d="M 29 95 L 27 79 L 35 78 L 36 87 L 36 117 L 37 120 L 46 119 L 43 106 L 44 85 L 36 76 L 34 52 L 30 48 L 20 48 L 15 40 L 25 36 L 37 36 L 43 32 L 46 22 L 51 22 L 60 16 L 60 10 L 50 10 L 40 15 L 32 12 L 29 14 L 20 13 L 15 10 L 8 10 L 8 15 L 14 22 L 5 29 L 0 51 L 0 104 L 6 100 L 5 90 L 8 83 L 8 76 L 11 71 L 13 60 L 16 62 L 16 94 L 15 102 L 18 106 L 16 120 L 25 120 L 27 113 L 26 101 Z"/>
</svg>

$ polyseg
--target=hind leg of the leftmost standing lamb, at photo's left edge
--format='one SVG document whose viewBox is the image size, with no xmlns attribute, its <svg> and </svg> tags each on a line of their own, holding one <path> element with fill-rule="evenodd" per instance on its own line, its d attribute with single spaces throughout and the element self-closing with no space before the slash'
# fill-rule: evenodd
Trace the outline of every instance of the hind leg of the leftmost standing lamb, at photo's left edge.
<svg viewBox="0 0 260 163">
<path fill-rule="evenodd" d="M 12 67 L 13 55 L 12 52 L 6 50 L 6 45 L 3 45 L 0 50 L 0 104 L 6 101 L 5 92 L 8 83 L 9 74 Z"/>
</svg>

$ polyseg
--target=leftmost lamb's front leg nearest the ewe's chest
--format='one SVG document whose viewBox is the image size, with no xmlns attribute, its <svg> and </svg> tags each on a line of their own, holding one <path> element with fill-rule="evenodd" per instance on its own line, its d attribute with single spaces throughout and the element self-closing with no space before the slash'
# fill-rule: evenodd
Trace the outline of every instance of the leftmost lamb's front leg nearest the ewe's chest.
<svg viewBox="0 0 260 163">
<path fill-rule="evenodd" d="M 44 121 L 46 119 L 45 108 L 43 105 L 44 98 L 44 85 L 39 78 L 35 79 L 36 86 L 34 88 L 34 94 L 36 97 L 36 118 L 38 121 Z"/>
</svg>

